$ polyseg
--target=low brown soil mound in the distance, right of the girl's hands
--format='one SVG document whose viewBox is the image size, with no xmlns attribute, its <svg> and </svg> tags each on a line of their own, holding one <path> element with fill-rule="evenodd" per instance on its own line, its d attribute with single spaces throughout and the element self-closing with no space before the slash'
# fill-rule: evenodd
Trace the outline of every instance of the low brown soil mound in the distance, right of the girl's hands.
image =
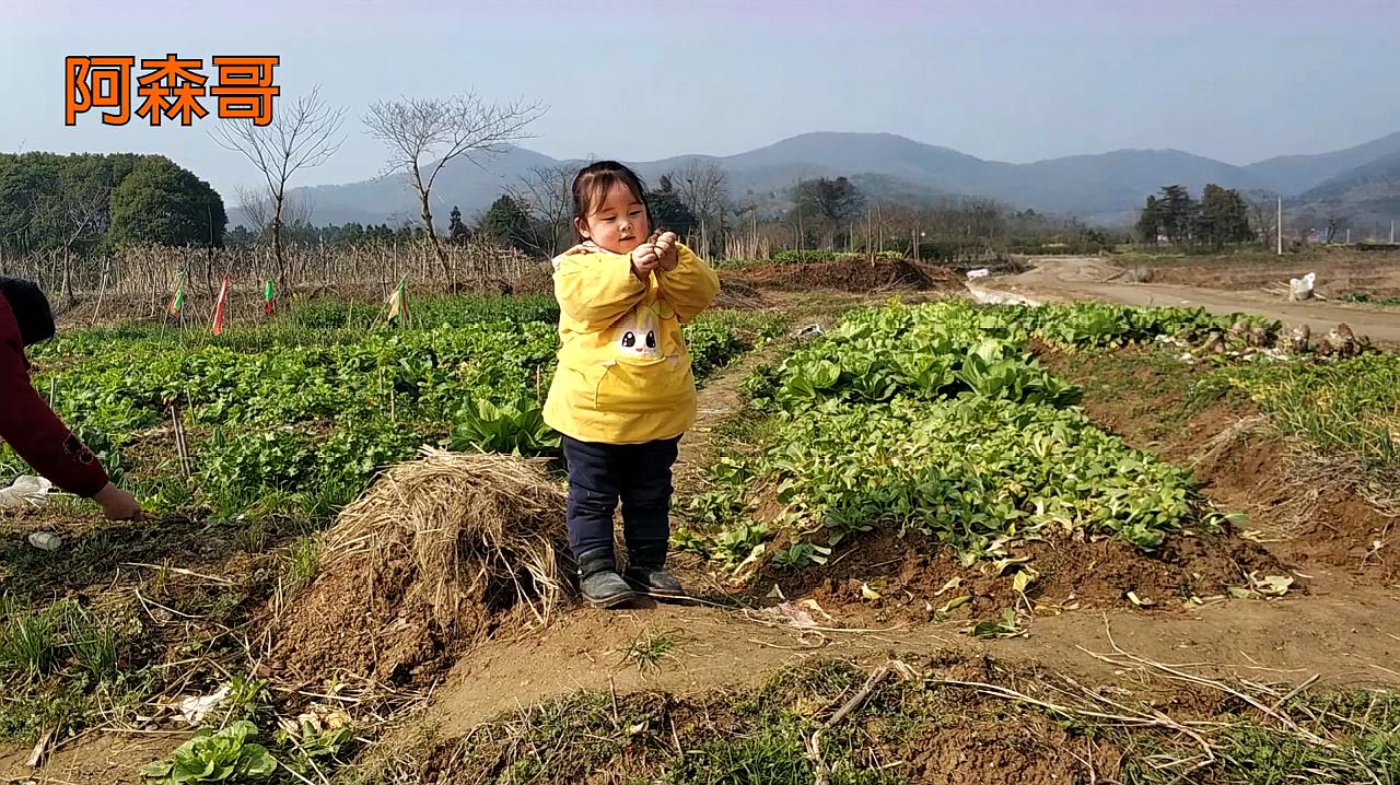
<svg viewBox="0 0 1400 785">
<path fill-rule="evenodd" d="M 755 264 L 724 273 L 724 281 L 757 288 L 804 291 L 826 288 L 854 294 L 882 290 L 960 290 L 951 270 L 904 259 L 837 259 L 833 262 Z"/>
</svg>

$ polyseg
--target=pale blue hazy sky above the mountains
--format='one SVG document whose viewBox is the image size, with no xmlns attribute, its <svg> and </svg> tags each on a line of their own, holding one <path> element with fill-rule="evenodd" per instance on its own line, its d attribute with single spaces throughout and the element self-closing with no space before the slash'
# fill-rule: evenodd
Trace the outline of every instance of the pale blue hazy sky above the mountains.
<svg viewBox="0 0 1400 785">
<path fill-rule="evenodd" d="M 557 158 L 729 155 L 886 132 L 1028 162 L 1179 148 L 1231 164 L 1400 130 L 1393 0 L 0 0 L 0 151 L 160 153 L 221 193 L 256 172 L 189 127 L 64 125 L 69 55 L 277 55 L 344 144 L 294 185 L 368 179 L 374 101 L 473 91 L 547 111 Z M 213 83 L 213 80 L 211 80 Z M 213 104 L 210 104 L 213 106 Z"/>
</svg>

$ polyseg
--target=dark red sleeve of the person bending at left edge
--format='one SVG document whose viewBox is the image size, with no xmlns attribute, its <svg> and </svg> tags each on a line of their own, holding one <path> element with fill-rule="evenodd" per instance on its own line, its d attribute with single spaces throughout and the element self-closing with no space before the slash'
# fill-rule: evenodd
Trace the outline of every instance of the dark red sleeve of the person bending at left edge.
<svg viewBox="0 0 1400 785">
<path fill-rule="evenodd" d="M 55 486 L 91 497 L 106 483 L 102 463 L 59 420 L 29 382 L 14 311 L 0 297 L 0 438 Z"/>
</svg>

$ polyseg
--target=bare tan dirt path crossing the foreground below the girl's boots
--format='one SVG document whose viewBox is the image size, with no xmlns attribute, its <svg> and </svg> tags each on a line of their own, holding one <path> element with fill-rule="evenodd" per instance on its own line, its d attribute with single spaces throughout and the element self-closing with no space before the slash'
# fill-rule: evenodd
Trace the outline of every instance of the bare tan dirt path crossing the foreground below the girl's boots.
<svg viewBox="0 0 1400 785">
<path fill-rule="evenodd" d="M 1242 679 L 1296 683 L 1320 674 L 1330 683 L 1400 684 L 1400 673 L 1392 669 L 1400 653 L 1397 593 L 1319 579 L 1310 596 L 1275 602 L 1044 616 L 1029 625 L 1029 637 L 1001 641 L 963 634 L 966 620 L 801 634 L 714 607 L 580 609 L 543 634 L 493 641 L 459 662 L 435 695 L 435 716 L 451 737 L 517 702 L 528 705 L 580 688 L 690 693 L 748 686 L 811 656 L 875 660 L 890 653 L 986 653 L 1098 681 L 1130 679 L 1133 673 L 1089 653 L 1113 652 L 1110 630 L 1119 646 L 1138 656 L 1196 663 Z M 624 653 L 634 641 L 665 634 L 675 645 L 655 670 L 640 670 Z"/>
</svg>

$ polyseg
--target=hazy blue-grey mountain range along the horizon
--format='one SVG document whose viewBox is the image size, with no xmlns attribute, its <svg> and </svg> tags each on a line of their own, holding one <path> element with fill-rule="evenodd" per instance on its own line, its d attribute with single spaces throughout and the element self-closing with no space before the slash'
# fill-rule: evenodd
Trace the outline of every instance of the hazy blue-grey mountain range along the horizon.
<svg viewBox="0 0 1400 785">
<path fill-rule="evenodd" d="M 680 155 L 634 162 L 633 167 L 655 183 L 661 175 L 678 172 L 692 161 L 713 162 L 725 171 L 736 201 L 770 207 L 787 203 L 799 179 L 846 175 L 857 179 L 869 196 L 896 201 L 983 196 L 1016 208 L 1124 224 L 1131 221 L 1142 200 L 1163 185 L 1179 183 L 1200 192 L 1205 183 L 1217 183 L 1246 192 L 1294 195 L 1359 171 L 1358 167 L 1365 169 L 1390 154 L 1400 154 L 1400 133 L 1350 150 L 1271 158 L 1249 167 L 1180 150 L 1116 150 L 1007 164 L 888 133 L 808 133 L 738 155 Z M 445 224 L 447 211 L 458 206 L 463 215 L 472 217 L 521 175 L 554 165 L 577 167 L 580 162 L 559 161 L 522 147 L 510 147 L 501 155 L 476 162 L 454 161 L 433 190 L 434 214 L 442 215 Z M 1373 197 L 1380 199 L 1379 192 L 1385 188 L 1389 186 L 1376 185 Z M 1400 189 L 1396 193 L 1400 195 Z M 309 201 L 318 224 L 398 222 L 419 214 L 416 196 L 399 176 L 294 189 L 291 197 Z M 231 221 L 242 220 L 235 210 Z"/>
</svg>

